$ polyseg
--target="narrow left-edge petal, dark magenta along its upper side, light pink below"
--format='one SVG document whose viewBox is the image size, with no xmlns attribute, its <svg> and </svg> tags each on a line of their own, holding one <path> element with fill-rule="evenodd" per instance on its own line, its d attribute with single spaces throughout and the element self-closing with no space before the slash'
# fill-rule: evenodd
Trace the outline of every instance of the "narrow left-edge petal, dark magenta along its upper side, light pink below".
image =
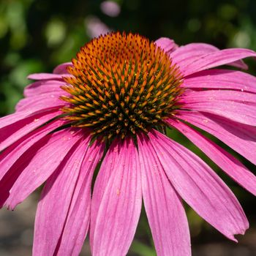
<svg viewBox="0 0 256 256">
<path fill-rule="evenodd" d="M 12 126 L 10 125 L 10 127 L 7 127 L 6 129 L 2 129 L 2 131 L 4 132 L 4 136 L 1 136 L 2 141 L 0 140 L 0 151 L 12 145 L 12 143 L 15 143 L 15 141 L 27 135 L 29 132 L 33 131 L 37 127 L 40 127 L 42 124 L 50 121 L 50 119 L 61 115 L 61 113 L 61 111 L 39 113 L 37 115 L 26 118 L 22 122 L 20 121 L 20 123 L 23 124 L 23 127 L 19 127 L 17 126 L 17 123 L 15 123 L 12 124 Z"/>
</svg>

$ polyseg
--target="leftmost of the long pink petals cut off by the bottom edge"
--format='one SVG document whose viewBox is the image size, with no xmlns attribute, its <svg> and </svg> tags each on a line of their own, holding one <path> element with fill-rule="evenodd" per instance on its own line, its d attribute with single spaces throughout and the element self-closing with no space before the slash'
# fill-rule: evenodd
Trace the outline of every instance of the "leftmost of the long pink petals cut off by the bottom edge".
<svg viewBox="0 0 256 256">
<path fill-rule="evenodd" d="M 56 250 L 88 143 L 89 137 L 77 143 L 64 165 L 46 181 L 37 206 L 33 255 L 53 255 Z"/>
</svg>

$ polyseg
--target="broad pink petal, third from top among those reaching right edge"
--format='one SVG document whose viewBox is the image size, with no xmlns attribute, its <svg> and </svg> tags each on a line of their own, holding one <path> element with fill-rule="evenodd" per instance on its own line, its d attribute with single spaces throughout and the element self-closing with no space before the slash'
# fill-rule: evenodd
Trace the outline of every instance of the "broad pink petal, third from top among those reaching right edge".
<svg viewBox="0 0 256 256">
<path fill-rule="evenodd" d="M 256 125 L 256 94 L 241 91 L 187 91 L 183 109 L 213 113 L 242 124 Z"/>
</svg>

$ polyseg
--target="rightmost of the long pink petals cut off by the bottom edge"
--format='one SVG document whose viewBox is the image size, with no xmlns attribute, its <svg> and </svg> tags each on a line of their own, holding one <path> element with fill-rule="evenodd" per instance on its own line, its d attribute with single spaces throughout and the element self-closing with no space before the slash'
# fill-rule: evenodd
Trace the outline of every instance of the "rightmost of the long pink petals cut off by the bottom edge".
<svg viewBox="0 0 256 256">
<path fill-rule="evenodd" d="M 154 148 L 140 135 L 138 148 L 143 202 L 157 255 L 191 255 L 187 217 Z"/>
</svg>

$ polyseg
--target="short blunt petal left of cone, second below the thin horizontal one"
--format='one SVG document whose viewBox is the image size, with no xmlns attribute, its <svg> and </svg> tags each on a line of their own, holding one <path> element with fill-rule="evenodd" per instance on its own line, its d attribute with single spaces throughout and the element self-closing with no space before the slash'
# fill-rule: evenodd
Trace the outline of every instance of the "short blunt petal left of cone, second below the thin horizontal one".
<svg viewBox="0 0 256 256">
<path fill-rule="evenodd" d="M 60 93 L 60 91 L 54 91 L 51 94 L 42 94 L 34 97 L 29 97 L 25 99 L 21 99 L 15 107 L 16 111 L 41 111 L 41 110 L 49 110 L 49 109 L 59 109 L 64 105 L 67 105 L 64 100 L 59 99 L 61 95 L 65 95 Z"/>
</svg>

